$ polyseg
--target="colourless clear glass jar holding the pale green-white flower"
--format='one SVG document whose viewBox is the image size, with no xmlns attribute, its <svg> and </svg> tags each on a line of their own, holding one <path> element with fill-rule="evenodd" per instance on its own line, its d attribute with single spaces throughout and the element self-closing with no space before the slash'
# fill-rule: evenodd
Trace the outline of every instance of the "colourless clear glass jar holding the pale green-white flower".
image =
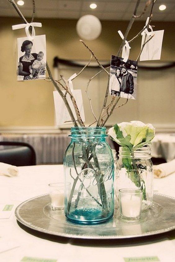
<svg viewBox="0 0 175 262">
<path fill-rule="evenodd" d="M 153 201 L 153 163 L 150 147 L 119 147 L 119 160 L 115 176 L 115 193 L 119 189 L 136 188 L 143 192 L 142 210 L 150 207 Z"/>
</svg>

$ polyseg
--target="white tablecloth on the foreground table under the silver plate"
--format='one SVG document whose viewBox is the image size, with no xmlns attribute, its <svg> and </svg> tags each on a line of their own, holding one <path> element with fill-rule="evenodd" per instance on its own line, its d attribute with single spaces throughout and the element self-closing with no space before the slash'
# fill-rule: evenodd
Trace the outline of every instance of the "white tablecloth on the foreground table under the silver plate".
<svg viewBox="0 0 175 262">
<path fill-rule="evenodd" d="M 26 199 L 47 193 L 49 183 L 61 181 L 62 165 L 19 167 L 18 177 L 0 176 L 0 204 L 14 204 L 16 207 Z M 156 192 L 175 197 L 175 173 L 155 179 L 154 183 Z M 175 261 L 175 241 L 161 236 L 156 239 L 150 237 L 151 241 L 143 238 L 139 240 L 141 242 L 56 239 L 50 241 L 25 232 L 17 224 L 13 209 L 10 218 L 0 219 L 0 243 L 1 240 L 11 240 L 18 247 L 1 253 L 0 246 L 0 261 L 18 262 L 25 256 L 55 259 L 58 262 L 123 262 L 123 257 L 146 256 L 158 256 L 162 262 Z"/>
</svg>

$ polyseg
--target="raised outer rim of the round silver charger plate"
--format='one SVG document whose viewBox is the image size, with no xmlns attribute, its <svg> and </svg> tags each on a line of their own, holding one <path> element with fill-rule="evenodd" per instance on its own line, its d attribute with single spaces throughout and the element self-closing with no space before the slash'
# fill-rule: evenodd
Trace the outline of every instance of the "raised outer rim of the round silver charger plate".
<svg viewBox="0 0 175 262">
<path fill-rule="evenodd" d="M 96 236 L 96 235 L 95 236 L 88 236 L 87 235 L 87 236 L 81 236 L 81 235 L 75 235 L 75 234 L 69 234 L 69 233 L 66 234 L 66 233 L 61 233 L 61 232 L 55 232 L 55 231 L 50 231 L 50 230 L 48 231 L 44 228 L 32 226 L 31 223 L 25 221 L 18 214 L 19 209 L 22 205 L 24 205 L 25 203 L 27 203 L 31 200 L 37 199 L 37 198 L 45 196 L 45 195 L 48 195 L 48 194 L 38 195 L 38 196 L 32 197 L 32 198 L 25 200 L 22 203 L 20 203 L 20 205 L 18 205 L 15 209 L 16 219 L 21 224 L 23 224 L 24 226 L 31 228 L 31 229 L 34 229 L 36 231 L 42 232 L 42 233 L 47 233 L 47 234 L 51 234 L 51 235 L 59 236 L 59 237 L 79 238 L 79 239 L 128 239 L 128 238 L 135 238 L 135 237 L 146 237 L 146 236 L 151 236 L 151 235 L 157 235 L 157 234 L 166 233 L 166 232 L 169 232 L 169 231 L 172 231 L 172 230 L 175 229 L 175 225 L 174 225 L 173 227 L 168 227 L 168 228 L 165 228 L 165 229 L 150 231 L 150 232 L 142 233 L 142 234 L 139 234 L 139 235 L 129 235 L 129 236 L 122 236 L 122 235 L 114 235 L 114 236 L 103 236 L 103 235 L 101 235 L 101 236 Z M 164 195 L 164 194 L 160 194 L 160 193 L 154 193 L 154 195 L 159 195 L 159 196 L 166 197 L 166 198 L 168 197 L 168 198 L 171 198 L 175 201 L 175 198 L 172 197 L 172 196 L 169 196 L 169 195 Z M 101 225 L 103 225 L 103 223 L 101 223 Z"/>
</svg>

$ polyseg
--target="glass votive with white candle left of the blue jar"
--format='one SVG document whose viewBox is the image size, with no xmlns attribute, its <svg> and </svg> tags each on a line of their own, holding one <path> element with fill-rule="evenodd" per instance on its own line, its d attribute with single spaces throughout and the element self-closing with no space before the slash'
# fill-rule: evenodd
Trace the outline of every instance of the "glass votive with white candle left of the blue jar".
<svg viewBox="0 0 175 262">
<path fill-rule="evenodd" d="M 64 208 L 64 183 L 49 184 L 49 195 L 53 211 Z"/>
</svg>

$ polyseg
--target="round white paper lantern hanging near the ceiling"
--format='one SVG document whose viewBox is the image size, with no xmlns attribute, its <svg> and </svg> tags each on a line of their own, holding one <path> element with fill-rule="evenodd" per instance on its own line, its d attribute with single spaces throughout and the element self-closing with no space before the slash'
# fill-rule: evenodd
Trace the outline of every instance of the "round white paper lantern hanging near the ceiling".
<svg viewBox="0 0 175 262">
<path fill-rule="evenodd" d="M 82 16 L 77 22 L 76 30 L 82 39 L 94 40 L 101 34 L 101 22 L 96 16 Z"/>
</svg>

